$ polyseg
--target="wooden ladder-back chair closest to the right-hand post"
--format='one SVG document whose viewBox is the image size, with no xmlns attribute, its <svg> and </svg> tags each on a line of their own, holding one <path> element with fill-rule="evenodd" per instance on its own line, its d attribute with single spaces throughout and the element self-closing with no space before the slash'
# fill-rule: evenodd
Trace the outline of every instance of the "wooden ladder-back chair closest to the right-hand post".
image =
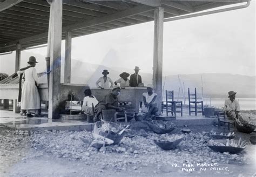
<svg viewBox="0 0 256 177">
<path fill-rule="evenodd" d="M 166 115 L 171 113 L 176 117 L 176 113 L 183 115 L 182 101 L 174 101 L 174 91 L 165 91 Z"/>
</svg>

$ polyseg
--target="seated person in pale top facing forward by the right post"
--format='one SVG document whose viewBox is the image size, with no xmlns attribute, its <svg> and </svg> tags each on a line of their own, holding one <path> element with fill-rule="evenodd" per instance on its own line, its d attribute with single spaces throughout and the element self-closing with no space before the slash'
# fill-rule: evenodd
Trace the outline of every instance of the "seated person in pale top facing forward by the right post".
<svg viewBox="0 0 256 177">
<path fill-rule="evenodd" d="M 147 84 L 147 92 L 144 92 L 142 96 L 142 112 L 147 113 L 146 118 L 151 118 L 152 115 L 156 115 L 156 113 L 158 112 L 158 108 L 155 103 L 157 99 L 157 93 L 154 93 L 154 87 L 152 84 Z"/>
</svg>

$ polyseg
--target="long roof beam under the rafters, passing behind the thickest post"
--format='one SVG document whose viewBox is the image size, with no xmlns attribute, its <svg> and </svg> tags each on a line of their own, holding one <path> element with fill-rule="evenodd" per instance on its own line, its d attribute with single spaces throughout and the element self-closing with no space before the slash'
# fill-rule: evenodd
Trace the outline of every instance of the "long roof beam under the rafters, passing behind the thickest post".
<svg viewBox="0 0 256 177">
<path fill-rule="evenodd" d="M 79 22 L 73 25 L 68 25 L 68 26 L 64 26 L 62 29 L 62 32 L 65 31 L 72 31 L 72 30 L 78 30 L 78 29 L 82 29 L 82 28 L 87 28 L 87 27 L 91 27 L 91 26 L 95 26 L 95 25 L 99 25 L 99 24 L 104 24 L 104 23 L 111 23 L 113 21 L 117 21 L 119 19 L 125 18 L 125 17 L 130 17 L 133 15 L 137 15 L 139 13 L 143 13 L 143 12 L 147 12 L 147 11 L 151 11 L 153 8 L 150 6 L 146 6 L 146 5 L 142 5 L 142 6 L 136 6 L 135 8 L 131 8 L 131 9 L 127 9 L 125 11 L 121 11 L 121 12 L 117 12 L 111 15 L 106 15 L 103 17 L 96 17 L 94 19 L 91 20 L 87 20 L 84 22 Z M 6 44 L 1 44 L 0 45 L 0 49 L 2 47 L 7 47 L 7 46 L 12 46 L 15 45 L 16 43 L 26 43 L 26 42 L 30 42 L 36 39 L 42 39 L 48 37 L 48 32 L 44 32 L 41 33 L 39 35 L 35 35 L 35 36 L 30 36 L 30 37 L 26 37 L 23 39 L 19 39 L 19 40 L 15 40 L 12 41 L 10 43 L 6 43 Z"/>
</svg>

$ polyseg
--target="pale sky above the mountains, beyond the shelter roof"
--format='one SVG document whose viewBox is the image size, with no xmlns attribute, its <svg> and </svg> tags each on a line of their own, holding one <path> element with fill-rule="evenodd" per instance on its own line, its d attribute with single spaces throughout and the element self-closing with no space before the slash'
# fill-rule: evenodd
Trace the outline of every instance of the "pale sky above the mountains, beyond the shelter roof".
<svg viewBox="0 0 256 177">
<path fill-rule="evenodd" d="M 22 51 L 22 65 L 28 55 L 44 63 L 46 47 Z M 73 38 L 72 59 L 152 73 L 153 22 Z M 0 72 L 13 73 L 15 52 L 0 62 Z M 163 75 L 195 73 L 255 76 L 254 0 L 246 9 L 164 23 Z"/>
</svg>

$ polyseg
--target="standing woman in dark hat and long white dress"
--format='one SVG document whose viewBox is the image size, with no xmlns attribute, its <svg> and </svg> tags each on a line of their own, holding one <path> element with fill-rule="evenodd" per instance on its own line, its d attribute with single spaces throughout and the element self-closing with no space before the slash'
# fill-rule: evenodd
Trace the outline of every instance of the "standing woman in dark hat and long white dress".
<svg viewBox="0 0 256 177">
<path fill-rule="evenodd" d="M 31 56 L 29 57 L 29 66 L 26 66 L 17 72 L 19 76 L 19 87 L 21 87 L 22 77 L 25 79 L 22 86 L 22 92 L 19 90 L 18 101 L 21 101 L 21 110 L 27 110 L 27 117 L 40 117 L 38 111 L 41 109 L 41 100 L 37 90 L 39 83 L 35 69 L 36 63 L 38 63 L 36 58 Z M 31 110 L 35 110 L 35 115 L 30 113 Z"/>
</svg>

